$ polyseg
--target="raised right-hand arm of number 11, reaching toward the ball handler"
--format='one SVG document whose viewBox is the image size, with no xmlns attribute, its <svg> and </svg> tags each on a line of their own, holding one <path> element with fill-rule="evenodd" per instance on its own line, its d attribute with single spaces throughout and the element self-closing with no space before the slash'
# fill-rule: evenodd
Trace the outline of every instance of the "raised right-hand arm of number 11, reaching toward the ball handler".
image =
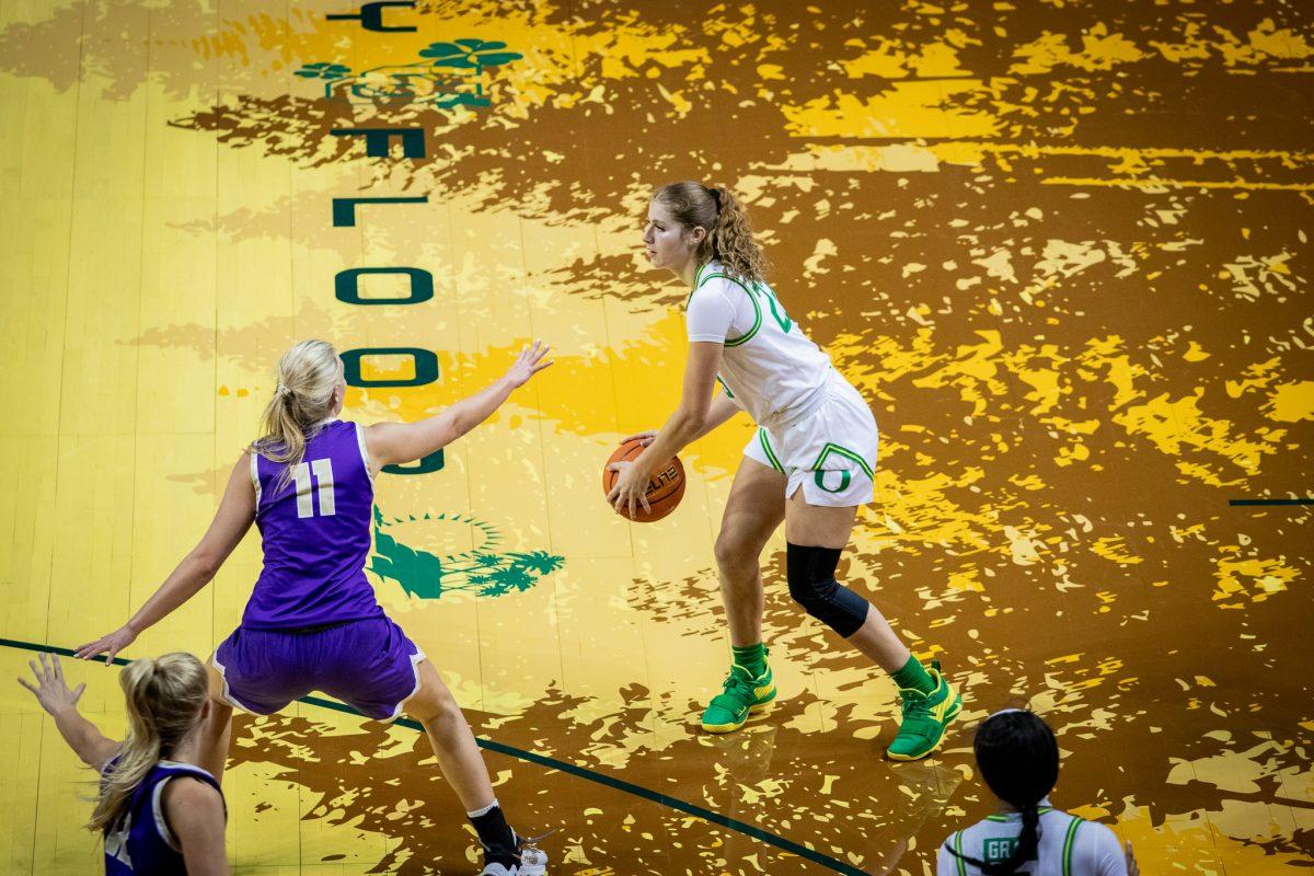
<svg viewBox="0 0 1314 876">
<path fill-rule="evenodd" d="M 376 423 L 365 429 L 371 465 L 414 462 L 447 447 L 493 415 L 511 393 L 552 364 L 545 357 L 551 347 L 533 341 L 526 347 L 506 374 L 474 395 L 418 423 Z"/>
</svg>

